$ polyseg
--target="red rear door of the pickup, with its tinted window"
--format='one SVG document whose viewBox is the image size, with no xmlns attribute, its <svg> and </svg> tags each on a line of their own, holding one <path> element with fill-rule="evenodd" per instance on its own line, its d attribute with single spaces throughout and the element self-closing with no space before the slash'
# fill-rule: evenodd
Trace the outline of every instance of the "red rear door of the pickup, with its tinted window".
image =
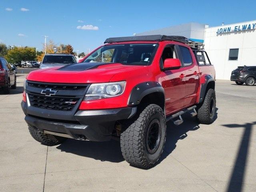
<svg viewBox="0 0 256 192">
<path fill-rule="evenodd" d="M 184 106 L 194 104 L 196 102 L 196 93 L 199 80 L 199 68 L 197 61 L 193 56 L 193 52 L 190 48 L 180 46 L 180 56 L 182 60 L 182 66 L 186 74 L 186 86 L 184 94 Z M 194 59 L 193 59 L 194 58 Z"/>
</svg>

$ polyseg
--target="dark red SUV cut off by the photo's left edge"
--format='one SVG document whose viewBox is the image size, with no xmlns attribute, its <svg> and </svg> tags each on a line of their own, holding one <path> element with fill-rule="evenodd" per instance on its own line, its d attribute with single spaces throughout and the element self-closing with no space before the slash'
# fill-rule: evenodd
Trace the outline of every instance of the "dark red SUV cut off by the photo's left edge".
<svg viewBox="0 0 256 192">
<path fill-rule="evenodd" d="M 10 64 L 0 57 L 0 88 L 5 93 L 10 93 L 10 88 L 16 89 L 16 75 Z"/>
</svg>

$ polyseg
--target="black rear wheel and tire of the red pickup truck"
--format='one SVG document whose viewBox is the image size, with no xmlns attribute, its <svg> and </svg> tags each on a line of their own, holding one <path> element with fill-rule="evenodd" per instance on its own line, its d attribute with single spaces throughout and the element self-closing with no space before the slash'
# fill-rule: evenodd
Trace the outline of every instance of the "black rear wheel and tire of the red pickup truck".
<svg viewBox="0 0 256 192">
<path fill-rule="evenodd" d="M 213 105 L 213 106 L 212 106 Z M 213 107 L 213 108 L 212 108 Z M 209 89 L 201 106 L 198 106 L 197 118 L 202 124 L 211 124 L 216 109 L 216 96 L 213 89 Z"/>
</svg>

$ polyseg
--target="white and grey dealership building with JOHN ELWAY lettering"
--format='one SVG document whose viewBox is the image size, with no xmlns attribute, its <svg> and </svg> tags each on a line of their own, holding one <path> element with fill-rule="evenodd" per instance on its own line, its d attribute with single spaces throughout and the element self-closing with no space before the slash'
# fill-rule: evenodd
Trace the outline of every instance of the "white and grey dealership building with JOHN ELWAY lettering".
<svg viewBox="0 0 256 192">
<path fill-rule="evenodd" d="M 204 43 L 216 79 L 230 79 L 237 66 L 256 66 L 256 20 L 210 27 L 208 24 L 188 23 L 152 30 L 140 35 L 180 35 Z"/>
</svg>

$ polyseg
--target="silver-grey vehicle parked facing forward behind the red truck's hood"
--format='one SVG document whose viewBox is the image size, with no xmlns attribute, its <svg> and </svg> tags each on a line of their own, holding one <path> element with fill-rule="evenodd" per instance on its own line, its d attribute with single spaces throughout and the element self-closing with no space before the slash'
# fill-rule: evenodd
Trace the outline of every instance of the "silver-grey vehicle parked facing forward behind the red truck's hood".
<svg viewBox="0 0 256 192">
<path fill-rule="evenodd" d="M 40 65 L 40 69 L 75 64 L 76 58 L 71 54 L 46 54 Z"/>
</svg>

